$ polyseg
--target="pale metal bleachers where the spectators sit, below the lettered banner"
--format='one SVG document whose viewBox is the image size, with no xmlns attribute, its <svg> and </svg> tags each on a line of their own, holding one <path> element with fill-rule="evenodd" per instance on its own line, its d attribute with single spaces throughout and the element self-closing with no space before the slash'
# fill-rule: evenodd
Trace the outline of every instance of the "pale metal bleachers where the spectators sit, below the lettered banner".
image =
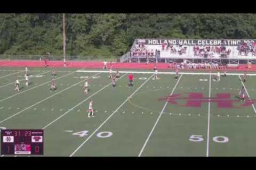
<svg viewBox="0 0 256 170">
<path fill-rule="evenodd" d="M 137 47 L 139 44 L 139 40 L 141 39 L 136 39 L 134 41 L 134 44 L 131 48 L 131 52 L 126 53 L 125 56 L 123 56 L 123 60 L 122 62 L 142 62 L 146 60 L 146 56 L 132 56 L 132 49 L 133 47 Z M 144 41 L 148 39 L 143 39 Z M 170 40 L 170 39 L 168 39 Z M 164 41 L 164 40 L 163 40 Z M 197 40 L 195 40 L 197 41 Z M 202 40 L 203 41 L 203 40 Z M 213 41 L 213 40 L 212 40 Z M 246 40 L 241 40 L 241 41 L 246 41 Z M 247 40 L 248 41 L 248 40 Z M 256 40 L 250 40 L 250 41 L 256 41 Z M 199 40 L 198 40 L 199 42 Z M 174 48 L 178 48 L 177 45 L 172 44 Z M 198 46 L 220 46 L 218 45 L 200 45 L 200 44 L 196 44 Z M 183 54 L 173 54 L 171 53 L 170 49 L 166 50 L 166 48 L 164 50 L 162 50 L 162 44 L 158 43 L 158 44 L 145 44 L 145 48 L 150 50 L 153 49 L 154 51 L 154 56 L 153 57 L 149 57 L 149 61 L 150 62 L 165 62 L 165 63 L 173 63 L 173 62 L 183 62 L 184 60 L 188 60 L 191 62 L 200 62 L 200 63 L 204 63 L 204 62 L 213 62 L 213 63 L 221 63 L 221 62 L 225 62 L 227 64 L 239 64 L 239 63 L 248 63 L 251 62 L 252 64 L 256 64 L 256 56 L 254 56 L 252 53 L 249 53 L 247 55 L 244 54 L 238 54 L 239 51 L 237 50 L 237 45 L 225 45 L 226 49 L 230 49 L 231 52 L 228 56 L 221 56 L 220 54 L 215 54 L 213 53 L 213 55 L 211 56 L 196 56 L 194 54 L 194 50 L 193 47 L 195 46 L 195 44 L 193 45 L 182 45 L 182 47 L 187 47 L 186 53 Z M 156 57 L 155 55 L 155 50 L 159 50 L 160 51 L 160 57 Z"/>
</svg>

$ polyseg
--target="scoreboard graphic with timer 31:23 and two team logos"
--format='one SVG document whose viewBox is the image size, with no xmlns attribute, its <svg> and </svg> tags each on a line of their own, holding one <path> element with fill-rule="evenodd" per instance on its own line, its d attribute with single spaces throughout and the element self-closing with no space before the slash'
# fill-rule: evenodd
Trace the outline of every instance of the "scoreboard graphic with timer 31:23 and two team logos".
<svg viewBox="0 0 256 170">
<path fill-rule="evenodd" d="M 43 155 L 44 130 L 1 130 L 1 155 Z"/>
</svg>

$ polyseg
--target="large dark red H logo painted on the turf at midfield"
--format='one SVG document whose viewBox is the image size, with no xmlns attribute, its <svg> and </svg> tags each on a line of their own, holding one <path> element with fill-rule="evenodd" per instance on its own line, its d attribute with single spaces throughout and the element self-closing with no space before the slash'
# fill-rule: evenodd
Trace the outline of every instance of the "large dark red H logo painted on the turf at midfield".
<svg viewBox="0 0 256 170">
<path fill-rule="evenodd" d="M 234 97 L 235 98 L 235 97 Z M 238 99 L 231 99 L 231 94 L 217 94 L 216 97 L 204 97 L 202 93 L 188 93 L 188 94 L 173 94 L 171 96 L 159 98 L 158 101 L 167 101 L 170 104 L 182 107 L 201 107 L 203 103 L 217 103 L 219 108 L 239 108 L 240 106 L 250 106 L 256 102 L 246 98 L 245 102 L 239 106 L 234 106 L 235 103 L 241 102 Z M 183 102 L 182 102 L 183 100 Z M 187 101 L 185 104 L 184 101 Z"/>
</svg>

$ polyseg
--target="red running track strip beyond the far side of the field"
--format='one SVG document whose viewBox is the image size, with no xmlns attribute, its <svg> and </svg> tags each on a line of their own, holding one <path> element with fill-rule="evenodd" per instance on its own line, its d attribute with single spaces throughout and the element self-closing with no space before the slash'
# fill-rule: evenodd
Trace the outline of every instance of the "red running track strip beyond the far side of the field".
<svg viewBox="0 0 256 170">
<path fill-rule="evenodd" d="M 146 65 L 143 63 L 112 63 L 112 66 L 115 69 L 152 69 L 155 63 L 149 63 Z M 9 61 L 9 60 L 1 60 L 1 67 L 44 67 L 44 61 Z M 63 67 L 63 61 L 47 61 L 47 67 Z M 110 64 L 108 63 L 108 67 Z M 102 69 L 103 62 L 78 62 L 78 61 L 67 61 L 67 67 L 69 68 L 90 68 L 90 69 Z M 170 69 L 166 63 L 157 63 L 157 69 L 164 70 Z M 170 69 L 172 70 L 172 69 Z M 195 69 L 182 69 L 182 70 L 195 70 Z M 251 69 L 248 69 L 247 64 L 239 64 L 236 67 L 229 67 L 228 70 L 232 71 L 256 71 L 256 65 L 252 65 Z"/>
</svg>

